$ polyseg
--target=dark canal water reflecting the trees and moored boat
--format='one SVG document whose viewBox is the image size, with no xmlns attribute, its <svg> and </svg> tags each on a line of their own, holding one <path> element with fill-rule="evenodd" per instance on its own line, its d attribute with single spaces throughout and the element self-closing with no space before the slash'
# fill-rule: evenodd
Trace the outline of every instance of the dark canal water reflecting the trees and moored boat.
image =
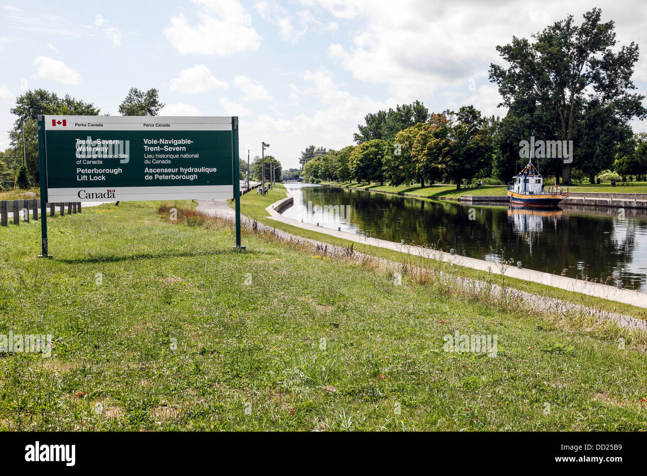
<svg viewBox="0 0 647 476">
<path fill-rule="evenodd" d="M 283 216 L 399 243 L 647 292 L 647 210 L 460 205 L 364 190 L 286 183 Z M 496 270 L 496 268 L 494 268 Z M 611 277 L 611 279 L 609 279 Z"/>
</svg>

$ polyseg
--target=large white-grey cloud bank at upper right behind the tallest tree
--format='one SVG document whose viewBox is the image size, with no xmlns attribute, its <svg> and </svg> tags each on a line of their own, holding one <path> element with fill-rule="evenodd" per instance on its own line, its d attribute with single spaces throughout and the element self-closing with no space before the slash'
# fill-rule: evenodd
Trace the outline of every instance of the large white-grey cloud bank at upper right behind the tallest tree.
<svg viewBox="0 0 647 476">
<path fill-rule="evenodd" d="M 336 17 L 353 19 L 358 29 L 350 45 L 331 43 L 329 58 L 353 76 L 388 85 L 400 102 L 430 96 L 439 88 L 462 87 L 470 78 L 485 78 L 490 63 L 501 63 L 496 45 L 512 36 L 530 38 L 553 21 L 591 10 L 586 0 L 564 8 L 559 1 L 510 0 L 466 3 L 455 0 L 439 6 L 428 0 L 384 1 L 313 0 Z M 647 41 L 644 2 L 602 5 L 603 21 L 613 19 L 622 44 Z M 629 13 L 631 12 L 631 13 Z M 486 20 L 487 19 L 487 20 Z M 620 32 L 628 32 L 626 38 Z M 643 55 L 644 56 L 644 55 Z M 647 58 L 636 67 L 636 78 L 647 78 Z"/>
</svg>

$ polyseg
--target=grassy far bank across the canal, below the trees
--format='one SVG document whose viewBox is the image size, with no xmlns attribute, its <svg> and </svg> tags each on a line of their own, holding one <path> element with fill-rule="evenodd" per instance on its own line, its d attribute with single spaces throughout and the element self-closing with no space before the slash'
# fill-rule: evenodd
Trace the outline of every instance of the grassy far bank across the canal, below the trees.
<svg viewBox="0 0 647 476">
<path fill-rule="evenodd" d="M 391 187 L 390 185 L 380 185 L 379 183 L 358 183 L 358 182 L 323 182 L 323 185 L 338 185 L 341 187 L 359 187 L 366 188 L 373 192 L 393 192 L 405 195 L 415 195 L 425 198 L 443 198 L 459 199 L 461 195 L 505 195 L 507 187 L 505 185 L 484 185 L 483 187 L 461 188 L 456 190 L 455 185 L 437 184 L 431 187 L 420 187 L 419 184 L 399 185 Z M 568 187 L 571 192 L 602 192 L 615 194 L 647 194 L 647 182 L 633 182 L 632 185 L 617 185 L 611 187 L 610 183 L 600 185 L 573 185 Z"/>
</svg>

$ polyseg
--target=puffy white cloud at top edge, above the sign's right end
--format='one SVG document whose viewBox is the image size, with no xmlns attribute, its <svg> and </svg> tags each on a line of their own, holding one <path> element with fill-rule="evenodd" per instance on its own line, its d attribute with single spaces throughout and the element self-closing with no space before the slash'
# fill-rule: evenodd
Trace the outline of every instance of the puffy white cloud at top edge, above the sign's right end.
<svg viewBox="0 0 647 476">
<path fill-rule="evenodd" d="M 238 0 L 193 0 L 199 5 L 199 23 L 193 27 L 181 13 L 164 29 L 166 39 L 180 54 L 228 56 L 256 50 L 261 37 L 252 27 L 252 17 Z"/>
</svg>

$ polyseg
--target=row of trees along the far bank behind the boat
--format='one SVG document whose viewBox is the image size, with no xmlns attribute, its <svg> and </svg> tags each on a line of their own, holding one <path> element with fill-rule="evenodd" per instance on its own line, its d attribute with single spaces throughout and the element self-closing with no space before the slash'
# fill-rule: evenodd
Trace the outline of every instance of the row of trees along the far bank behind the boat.
<svg viewBox="0 0 647 476">
<path fill-rule="evenodd" d="M 505 66 L 492 63 L 489 77 L 503 98 L 499 106 L 508 108 L 505 117 L 481 117 L 474 106 L 429 113 L 419 101 L 371 113 L 358 125 L 356 145 L 307 158 L 303 176 L 390 185 L 444 181 L 457 188 L 475 177 L 505 183 L 528 161 L 521 142 L 539 139 L 573 144 L 568 159 L 535 155 L 556 183 L 572 177 L 593 183 L 611 168 L 644 179 L 646 137 L 630 126 L 647 117 L 645 96 L 631 81 L 638 45 L 619 47 L 614 22 L 601 16 L 593 8 L 577 25 L 569 15 L 531 40 L 513 37 L 496 47 Z"/>
</svg>

